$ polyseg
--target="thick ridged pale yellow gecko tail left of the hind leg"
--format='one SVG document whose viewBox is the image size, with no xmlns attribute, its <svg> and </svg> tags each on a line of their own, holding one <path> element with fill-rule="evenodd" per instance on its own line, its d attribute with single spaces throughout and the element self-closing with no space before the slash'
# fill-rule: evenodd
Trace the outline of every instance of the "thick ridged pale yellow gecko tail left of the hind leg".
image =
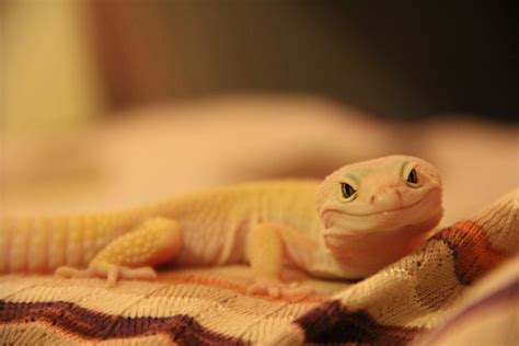
<svg viewBox="0 0 519 346">
<path fill-rule="evenodd" d="M 0 274 L 85 267 L 109 241 L 136 223 L 129 212 L 0 218 Z"/>
</svg>

